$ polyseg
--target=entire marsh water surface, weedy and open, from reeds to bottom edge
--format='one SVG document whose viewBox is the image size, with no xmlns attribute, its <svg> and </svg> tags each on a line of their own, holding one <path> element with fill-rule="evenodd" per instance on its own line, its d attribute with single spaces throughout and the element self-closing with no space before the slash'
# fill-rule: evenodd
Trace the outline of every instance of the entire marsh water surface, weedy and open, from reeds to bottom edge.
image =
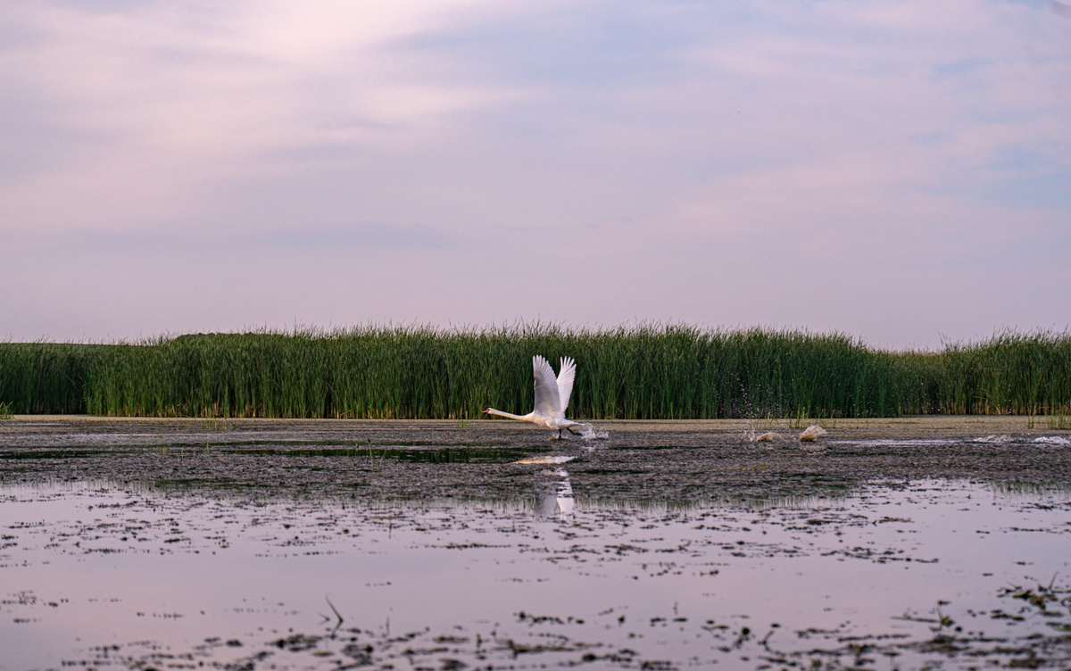
<svg viewBox="0 0 1071 671">
<path fill-rule="evenodd" d="M 823 424 L 0 421 L 0 669 L 1071 668 L 1067 428 Z"/>
</svg>

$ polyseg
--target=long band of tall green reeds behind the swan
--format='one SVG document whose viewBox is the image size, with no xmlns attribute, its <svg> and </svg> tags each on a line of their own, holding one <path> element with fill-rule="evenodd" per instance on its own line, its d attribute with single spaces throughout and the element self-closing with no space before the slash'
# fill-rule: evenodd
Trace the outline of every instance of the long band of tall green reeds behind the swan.
<svg viewBox="0 0 1071 671">
<path fill-rule="evenodd" d="M 469 418 L 532 403 L 531 356 L 577 362 L 577 418 L 858 417 L 1071 411 L 1071 333 L 937 352 L 841 334 L 640 325 L 365 326 L 136 344 L 0 342 L 12 413 Z"/>
</svg>

